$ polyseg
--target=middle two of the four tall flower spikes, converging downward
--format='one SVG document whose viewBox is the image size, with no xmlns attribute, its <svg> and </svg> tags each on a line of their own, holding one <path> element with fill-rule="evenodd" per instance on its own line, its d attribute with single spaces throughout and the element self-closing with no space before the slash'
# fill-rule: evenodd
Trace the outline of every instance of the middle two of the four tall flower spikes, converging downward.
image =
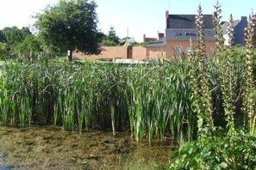
<svg viewBox="0 0 256 170">
<path fill-rule="evenodd" d="M 214 23 L 215 23 L 215 40 L 216 40 L 216 57 L 219 59 L 220 70 L 218 71 L 220 89 L 222 92 L 222 106 L 224 109 L 225 120 L 227 122 L 228 135 L 234 134 L 234 109 L 235 109 L 235 70 L 234 70 L 234 21 L 230 15 L 228 22 L 228 46 L 224 46 L 221 29 L 221 6 L 215 5 Z"/>
</svg>

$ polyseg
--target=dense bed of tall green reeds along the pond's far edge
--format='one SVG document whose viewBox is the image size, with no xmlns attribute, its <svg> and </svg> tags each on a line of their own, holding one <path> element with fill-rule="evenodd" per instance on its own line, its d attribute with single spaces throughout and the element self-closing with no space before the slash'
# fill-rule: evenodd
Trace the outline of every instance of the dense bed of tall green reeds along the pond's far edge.
<svg viewBox="0 0 256 170">
<path fill-rule="evenodd" d="M 239 51 L 234 52 L 235 117 L 243 116 L 243 58 Z M 204 71 L 209 78 L 214 122 L 224 127 L 218 62 L 213 56 Z M 138 142 L 145 137 L 149 143 L 156 137 L 160 141 L 166 137 L 191 140 L 197 137 L 197 113 L 190 70 L 186 59 L 152 64 L 10 62 L 1 68 L 0 122 L 53 124 L 66 131 L 97 129 L 113 131 L 113 136 L 116 131 L 129 131 Z"/>
</svg>

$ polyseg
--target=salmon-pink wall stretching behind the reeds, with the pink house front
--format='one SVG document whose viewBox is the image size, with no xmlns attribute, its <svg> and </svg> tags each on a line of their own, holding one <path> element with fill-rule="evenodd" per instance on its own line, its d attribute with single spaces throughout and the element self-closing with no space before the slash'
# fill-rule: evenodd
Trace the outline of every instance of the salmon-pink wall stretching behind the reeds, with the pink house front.
<svg viewBox="0 0 256 170">
<path fill-rule="evenodd" d="M 197 41 L 192 41 L 192 46 L 197 46 Z M 206 41 L 206 54 L 215 50 L 215 41 Z M 178 41 L 167 41 L 166 46 L 163 47 L 145 47 L 145 46 L 133 46 L 132 47 L 132 59 L 174 59 L 178 55 L 174 52 L 176 47 L 180 47 L 182 52 L 187 53 L 190 47 L 189 40 L 178 40 Z M 74 59 L 113 59 L 113 58 L 128 58 L 128 47 L 127 46 L 102 46 L 101 53 L 99 55 L 84 55 L 81 52 L 73 52 Z"/>
</svg>

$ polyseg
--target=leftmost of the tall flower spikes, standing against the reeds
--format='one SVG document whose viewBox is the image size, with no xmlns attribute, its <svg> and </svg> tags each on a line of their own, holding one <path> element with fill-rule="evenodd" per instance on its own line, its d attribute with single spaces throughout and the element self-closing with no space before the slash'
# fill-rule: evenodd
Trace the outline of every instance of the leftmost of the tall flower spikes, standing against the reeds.
<svg viewBox="0 0 256 170">
<path fill-rule="evenodd" d="M 199 137 L 209 135 L 203 134 L 203 128 L 213 127 L 213 106 L 211 89 L 209 86 L 209 61 L 205 54 L 203 38 L 203 10 L 199 5 L 197 9 L 197 41 L 198 47 L 190 53 L 190 87 L 192 90 L 194 112 L 197 114 L 197 135 Z"/>
</svg>

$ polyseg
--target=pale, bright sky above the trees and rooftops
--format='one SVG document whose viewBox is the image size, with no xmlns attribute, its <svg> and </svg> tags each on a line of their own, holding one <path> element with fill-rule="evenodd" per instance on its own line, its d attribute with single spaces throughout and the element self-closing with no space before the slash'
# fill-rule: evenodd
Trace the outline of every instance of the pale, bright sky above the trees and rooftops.
<svg viewBox="0 0 256 170">
<path fill-rule="evenodd" d="M 0 0 L 0 29 L 3 27 L 31 27 L 32 15 L 41 13 L 47 5 L 59 0 Z M 165 11 L 170 14 L 196 14 L 201 3 L 203 14 L 212 14 L 216 0 L 95 0 L 97 3 L 98 29 L 103 33 L 114 27 L 116 35 L 127 35 L 141 42 L 143 34 L 156 38 L 165 32 Z M 256 12 L 254 0 L 219 0 L 222 5 L 222 20 L 228 21 Z"/>
</svg>

